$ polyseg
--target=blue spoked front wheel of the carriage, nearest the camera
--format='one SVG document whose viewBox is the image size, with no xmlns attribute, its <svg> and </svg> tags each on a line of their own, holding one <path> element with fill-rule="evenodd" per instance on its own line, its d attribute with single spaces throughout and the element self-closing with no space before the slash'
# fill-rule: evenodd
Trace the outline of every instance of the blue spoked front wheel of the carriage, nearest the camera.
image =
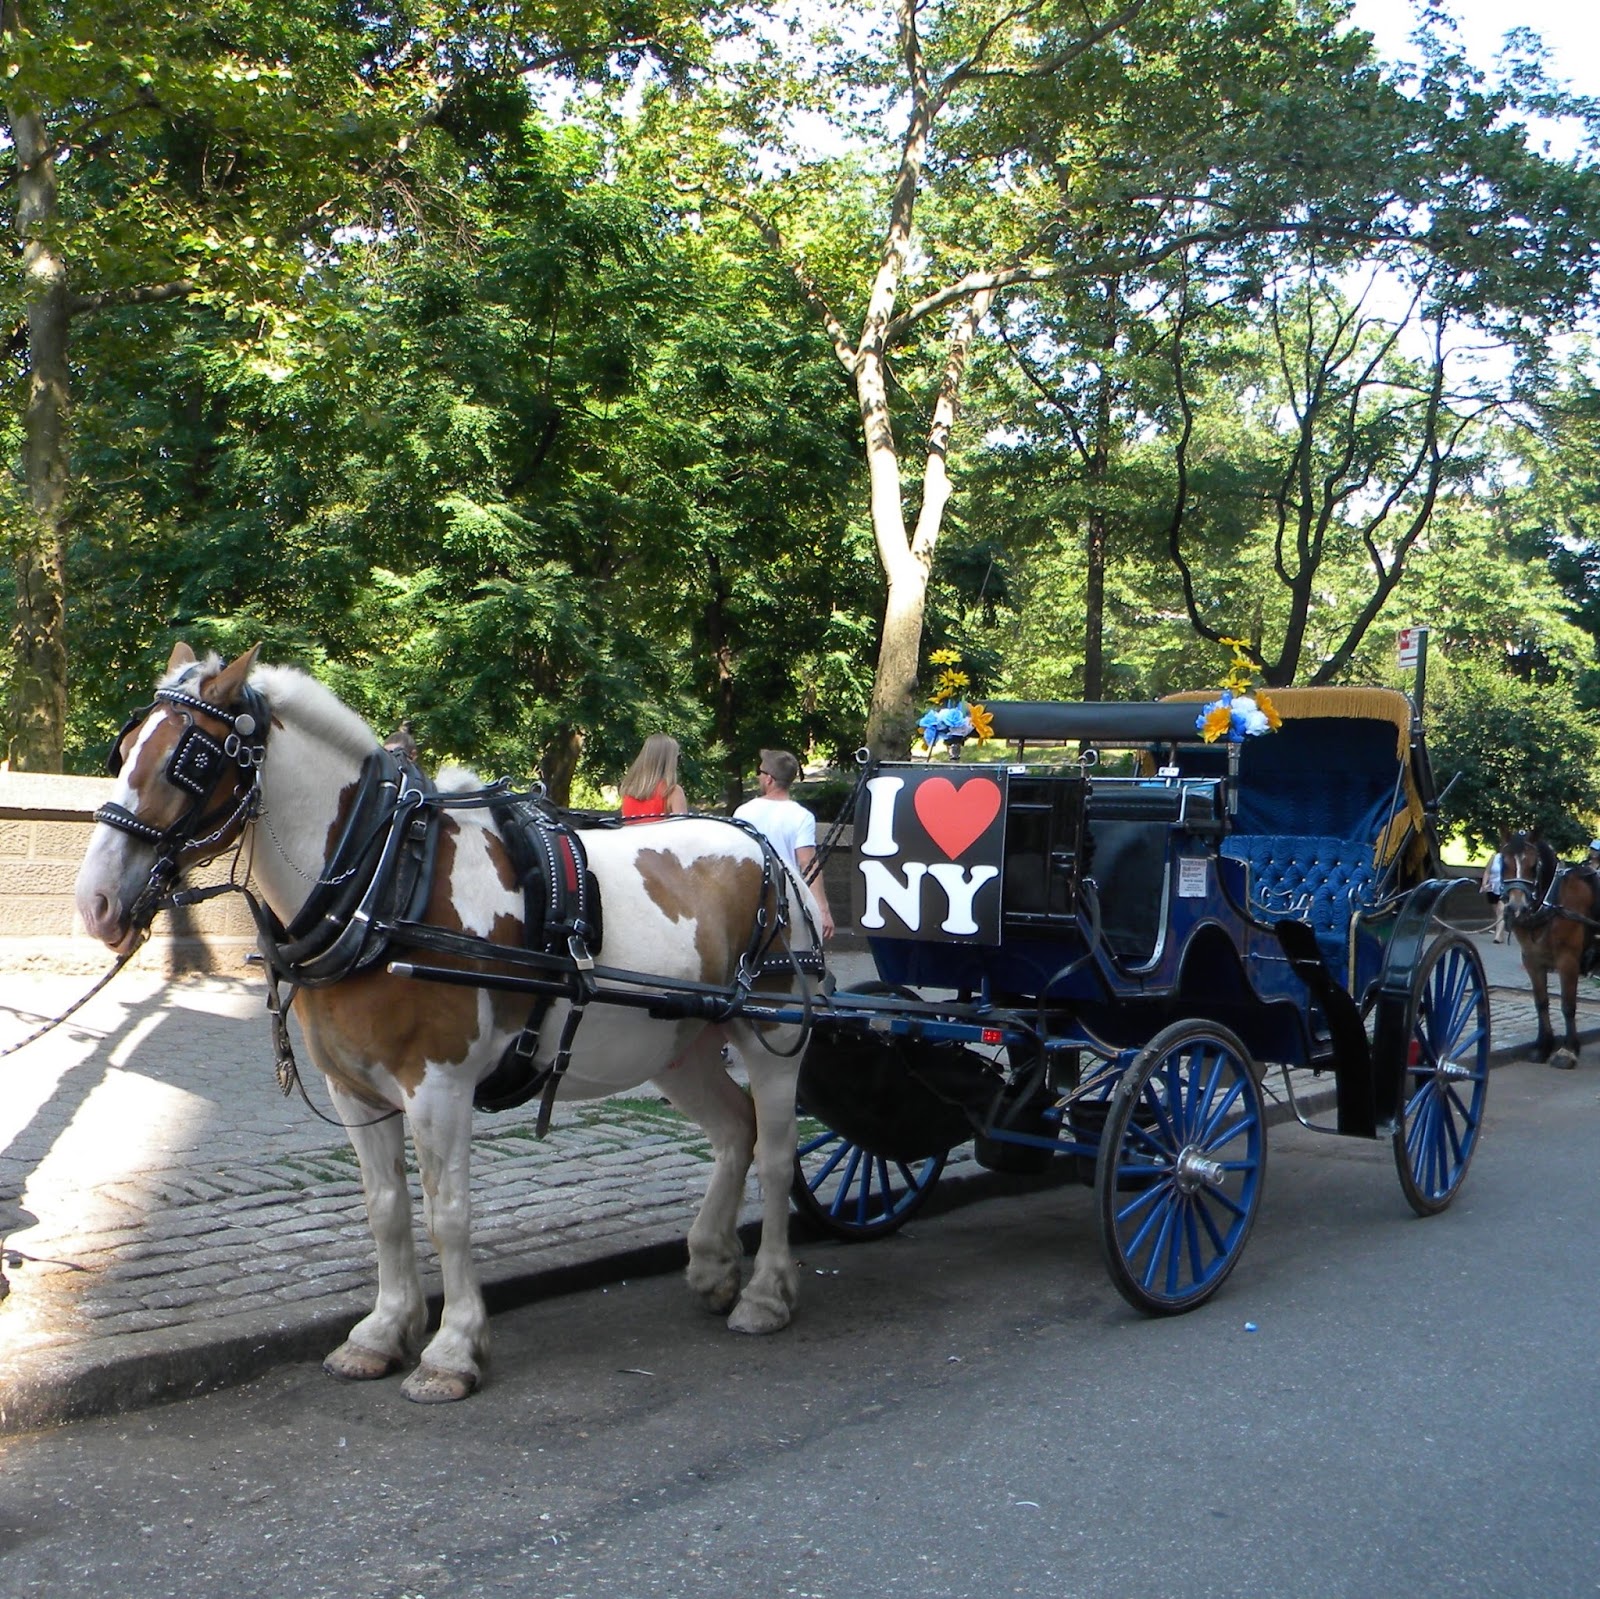
<svg viewBox="0 0 1600 1599">
<path fill-rule="evenodd" d="M 1134 1309 L 1176 1316 L 1234 1269 L 1261 1205 L 1261 1079 L 1227 1028 L 1178 1021 L 1123 1072 L 1094 1170 L 1101 1248 Z"/>
</svg>

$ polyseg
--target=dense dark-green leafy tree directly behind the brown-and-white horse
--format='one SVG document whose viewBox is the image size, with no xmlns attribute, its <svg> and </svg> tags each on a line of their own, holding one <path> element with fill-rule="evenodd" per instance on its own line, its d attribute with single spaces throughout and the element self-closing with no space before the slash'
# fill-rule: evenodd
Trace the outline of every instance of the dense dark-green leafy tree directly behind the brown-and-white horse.
<svg viewBox="0 0 1600 1599">
<path fill-rule="evenodd" d="M 173 624 L 266 640 L 432 759 L 558 799 L 658 727 L 696 797 L 758 743 L 853 741 L 872 560 L 790 285 L 664 226 L 526 101 L 474 165 L 461 237 L 346 242 L 282 363 L 190 317 L 130 327 L 85 391 L 85 471 L 118 487 L 74 544 L 104 674 L 77 747 Z"/>
</svg>

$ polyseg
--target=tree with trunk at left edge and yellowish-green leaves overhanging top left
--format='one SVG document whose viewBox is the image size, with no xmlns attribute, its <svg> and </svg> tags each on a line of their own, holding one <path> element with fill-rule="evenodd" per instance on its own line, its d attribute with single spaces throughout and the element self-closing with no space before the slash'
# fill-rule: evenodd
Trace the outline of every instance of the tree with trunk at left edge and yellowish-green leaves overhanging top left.
<svg viewBox="0 0 1600 1599">
<path fill-rule="evenodd" d="M 526 104 L 525 74 L 603 75 L 646 54 L 682 74 L 699 13 L 714 8 L 0 3 L 0 208 L 21 250 L 5 307 L 22 418 L 22 493 L 6 504 L 18 767 L 62 754 L 83 331 L 182 306 L 285 365 L 307 272 L 352 227 L 456 219 L 448 155 L 493 146 L 507 106 Z"/>
</svg>

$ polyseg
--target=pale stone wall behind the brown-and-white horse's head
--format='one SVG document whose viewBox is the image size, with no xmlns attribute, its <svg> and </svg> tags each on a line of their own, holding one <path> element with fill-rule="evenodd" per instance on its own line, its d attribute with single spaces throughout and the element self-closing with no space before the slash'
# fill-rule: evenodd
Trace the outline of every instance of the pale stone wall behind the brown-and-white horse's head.
<svg viewBox="0 0 1600 1599">
<path fill-rule="evenodd" d="M 94 812 L 110 778 L 0 771 L 0 972 L 104 972 L 109 951 L 83 932 L 72 903 Z M 190 874 L 194 885 L 226 882 L 232 855 Z M 222 895 L 186 911 L 163 911 L 134 965 L 166 972 L 243 972 L 254 949 L 243 898 Z"/>
</svg>

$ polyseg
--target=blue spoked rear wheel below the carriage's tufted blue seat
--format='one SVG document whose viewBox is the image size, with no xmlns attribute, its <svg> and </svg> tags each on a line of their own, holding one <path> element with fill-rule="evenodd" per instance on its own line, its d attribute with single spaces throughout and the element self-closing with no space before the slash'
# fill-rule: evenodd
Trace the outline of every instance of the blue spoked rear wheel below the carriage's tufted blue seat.
<svg viewBox="0 0 1600 1599">
<path fill-rule="evenodd" d="M 1490 994 L 1478 952 L 1459 933 L 1422 957 L 1411 988 L 1411 1040 L 1395 1117 L 1395 1168 L 1419 1216 L 1443 1210 L 1478 1146 L 1490 1085 Z"/>
</svg>

